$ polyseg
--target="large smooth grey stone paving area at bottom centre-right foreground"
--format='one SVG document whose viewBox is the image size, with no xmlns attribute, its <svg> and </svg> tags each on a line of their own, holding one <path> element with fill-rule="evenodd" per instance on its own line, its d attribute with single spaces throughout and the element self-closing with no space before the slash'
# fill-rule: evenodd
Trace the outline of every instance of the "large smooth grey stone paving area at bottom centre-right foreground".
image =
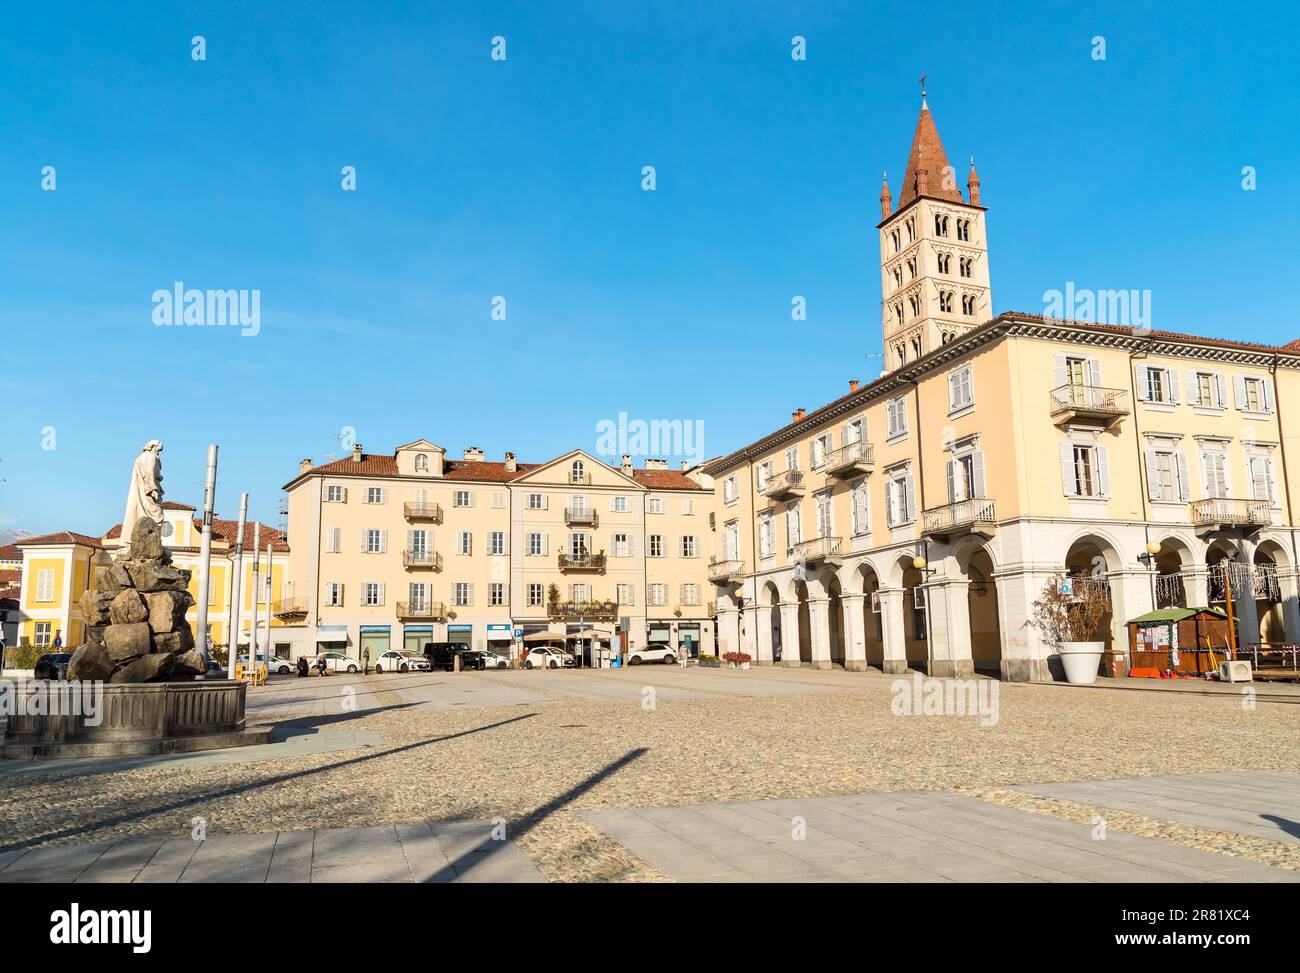
<svg viewBox="0 0 1300 973">
<path fill-rule="evenodd" d="M 1095 840 L 1088 825 L 940 791 L 582 817 L 685 882 L 1300 882 L 1152 838 Z"/>
</svg>

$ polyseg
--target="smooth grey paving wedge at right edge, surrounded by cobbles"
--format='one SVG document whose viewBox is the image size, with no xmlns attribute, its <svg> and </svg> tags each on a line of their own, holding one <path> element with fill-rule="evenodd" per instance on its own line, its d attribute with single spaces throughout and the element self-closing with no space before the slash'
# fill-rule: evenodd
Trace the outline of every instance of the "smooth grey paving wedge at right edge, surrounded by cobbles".
<svg viewBox="0 0 1300 973">
<path fill-rule="evenodd" d="M 1300 844 L 1300 774 L 1186 774 L 1026 784 L 1013 790 Z"/>
</svg>

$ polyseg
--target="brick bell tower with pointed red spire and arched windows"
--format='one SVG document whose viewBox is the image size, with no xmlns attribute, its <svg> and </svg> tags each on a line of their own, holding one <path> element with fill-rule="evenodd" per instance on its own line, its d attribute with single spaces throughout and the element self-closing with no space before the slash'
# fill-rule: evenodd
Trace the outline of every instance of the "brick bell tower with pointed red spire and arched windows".
<svg viewBox="0 0 1300 973">
<path fill-rule="evenodd" d="M 993 316 L 988 237 L 971 159 L 966 199 L 935 127 L 920 75 L 920 117 L 893 208 L 880 191 L 880 321 L 884 371 L 914 362 Z"/>
</svg>

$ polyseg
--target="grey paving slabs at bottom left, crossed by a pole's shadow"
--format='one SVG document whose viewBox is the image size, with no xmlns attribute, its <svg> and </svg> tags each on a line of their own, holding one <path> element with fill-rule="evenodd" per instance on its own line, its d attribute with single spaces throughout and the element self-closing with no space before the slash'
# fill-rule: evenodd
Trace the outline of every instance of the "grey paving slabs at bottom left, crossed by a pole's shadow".
<svg viewBox="0 0 1300 973">
<path fill-rule="evenodd" d="M 5 852 L 14 882 L 543 882 L 490 821 L 131 839 Z"/>
</svg>

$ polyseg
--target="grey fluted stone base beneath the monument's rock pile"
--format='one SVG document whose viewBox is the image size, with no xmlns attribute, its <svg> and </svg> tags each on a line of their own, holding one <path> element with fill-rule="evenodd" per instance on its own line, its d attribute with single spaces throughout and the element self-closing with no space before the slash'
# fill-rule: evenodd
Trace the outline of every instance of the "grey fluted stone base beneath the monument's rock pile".
<svg viewBox="0 0 1300 973">
<path fill-rule="evenodd" d="M 270 741 L 270 728 L 244 727 L 244 683 L 100 683 L 95 691 L 103 692 L 95 717 L 10 715 L 0 757 L 126 757 Z"/>
</svg>

